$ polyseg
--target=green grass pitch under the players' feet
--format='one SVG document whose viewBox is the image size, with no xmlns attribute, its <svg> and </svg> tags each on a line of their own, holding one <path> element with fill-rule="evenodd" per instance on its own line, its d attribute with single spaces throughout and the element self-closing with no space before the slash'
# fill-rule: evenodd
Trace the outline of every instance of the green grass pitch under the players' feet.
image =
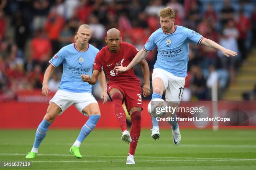
<svg viewBox="0 0 256 170">
<path fill-rule="evenodd" d="M 126 165 L 128 145 L 120 130 L 94 130 L 81 146 L 82 159 L 69 154 L 79 130 L 50 129 L 33 160 L 31 150 L 35 130 L 0 130 L 0 161 L 31 161 L 30 168 L 61 170 L 248 170 L 256 169 L 256 130 L 181 130 L 179 146 L 172 142 L 171 130 L 160 130 L 160 140 L 142 130 L 136 150 L 136 165 Z M 0 169 L 3 169 L 3 167 Z"/>
</svg>

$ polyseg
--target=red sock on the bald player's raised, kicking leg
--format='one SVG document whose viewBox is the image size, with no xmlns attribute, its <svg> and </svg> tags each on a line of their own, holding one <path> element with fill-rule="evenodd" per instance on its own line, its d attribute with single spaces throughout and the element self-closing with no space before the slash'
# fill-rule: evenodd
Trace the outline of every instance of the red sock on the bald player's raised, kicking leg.
<svg viewBox="0 0 256 170">
<path fill-rule="evenodd" d="M 127 130 L 127 125 L 126 125 L 126 114 L 122 107 L 122 96 L 118 92 L 114 93 L 112 96 L 112 102 L 113 102 L 115 117 L 118 120 L 120 128 L 123 132 L 124 130 Z"/>
</svg>

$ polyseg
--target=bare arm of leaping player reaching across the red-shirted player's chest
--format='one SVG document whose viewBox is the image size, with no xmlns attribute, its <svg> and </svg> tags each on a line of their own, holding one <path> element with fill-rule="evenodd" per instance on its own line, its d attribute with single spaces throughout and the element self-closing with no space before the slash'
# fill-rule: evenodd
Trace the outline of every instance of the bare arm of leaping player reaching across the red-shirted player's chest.
<svg viewBox="0 0 256 170">
<path fill-rule="evenodd" d="M 145 50 L 140 50 L 135 57 L 133 58 L 133 60 L 130 62 L 129 65 L 127 65 L 127 67 L 123 67 L 123 66 L 115 66 L 114 71 L 121 71 L 121 72 L 125 72 L 130 70 L 132 67 L 134 67 L 134 65 L 138 64 L 143 58 L 146 58 L 146 56 L 148 55 L 148 52 L 146 52 Z"/>
</svg>

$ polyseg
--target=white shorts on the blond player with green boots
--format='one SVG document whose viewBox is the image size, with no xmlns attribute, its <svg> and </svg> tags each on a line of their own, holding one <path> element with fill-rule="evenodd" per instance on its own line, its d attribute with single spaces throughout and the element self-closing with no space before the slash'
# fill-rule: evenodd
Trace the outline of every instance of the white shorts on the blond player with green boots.
<svg viewBox="0 0 256 170">
<path fill-rule="evenodd" d="M 79 112 L 83 115 L 88 116 L 87 113 L 82 112 L 84 107 L 90 105 L 91 103 L 98 103 L 90 92 L 68 92 L 64 90 L 58 90 L 54 97 L 49 101 L 49 104 L 54 102 L 61 108 L 61 115 L 69 106 L 74 104 Z"/>
</svg>

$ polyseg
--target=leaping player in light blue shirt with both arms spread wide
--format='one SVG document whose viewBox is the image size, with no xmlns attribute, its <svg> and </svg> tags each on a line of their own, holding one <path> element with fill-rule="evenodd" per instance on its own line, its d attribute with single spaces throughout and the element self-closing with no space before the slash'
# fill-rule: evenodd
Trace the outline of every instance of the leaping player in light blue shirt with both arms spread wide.
<svg viewBox="0 0 256 170">
<path fill-rule="evenodd" d="M 127 67 L 118 66 L 114 70 L 124 72 L 131 69 L 145 58 L 148 52 L 157 47 L 157 60 L 152 74 L 152 100 L 161 99 L 164 90 L 166 90 L 166 101 L 168 101 L 169 105 L 175 107 L 177 104 L 179 105 L 185 85 L 190 42 L 220 50 L 227 57 L 230 55 L 236 56 L 237 53 L 202 37 L 202 35 L 193 30 L 174 25 L 175 13 L 170 7 L 162 9 L 159 15 L 161 28 L 151 34 L 143 49 L 138 52 Z M 174 145 L 179 145 L 181 140 L 179 125 L 176 121 L 170 121 L 169 123 L 172 125 Z M 155 140 L 159 139 L 158 121 L 154 117 L 152 117 L 152 124 L 151 137 Z"/>
</svg>

